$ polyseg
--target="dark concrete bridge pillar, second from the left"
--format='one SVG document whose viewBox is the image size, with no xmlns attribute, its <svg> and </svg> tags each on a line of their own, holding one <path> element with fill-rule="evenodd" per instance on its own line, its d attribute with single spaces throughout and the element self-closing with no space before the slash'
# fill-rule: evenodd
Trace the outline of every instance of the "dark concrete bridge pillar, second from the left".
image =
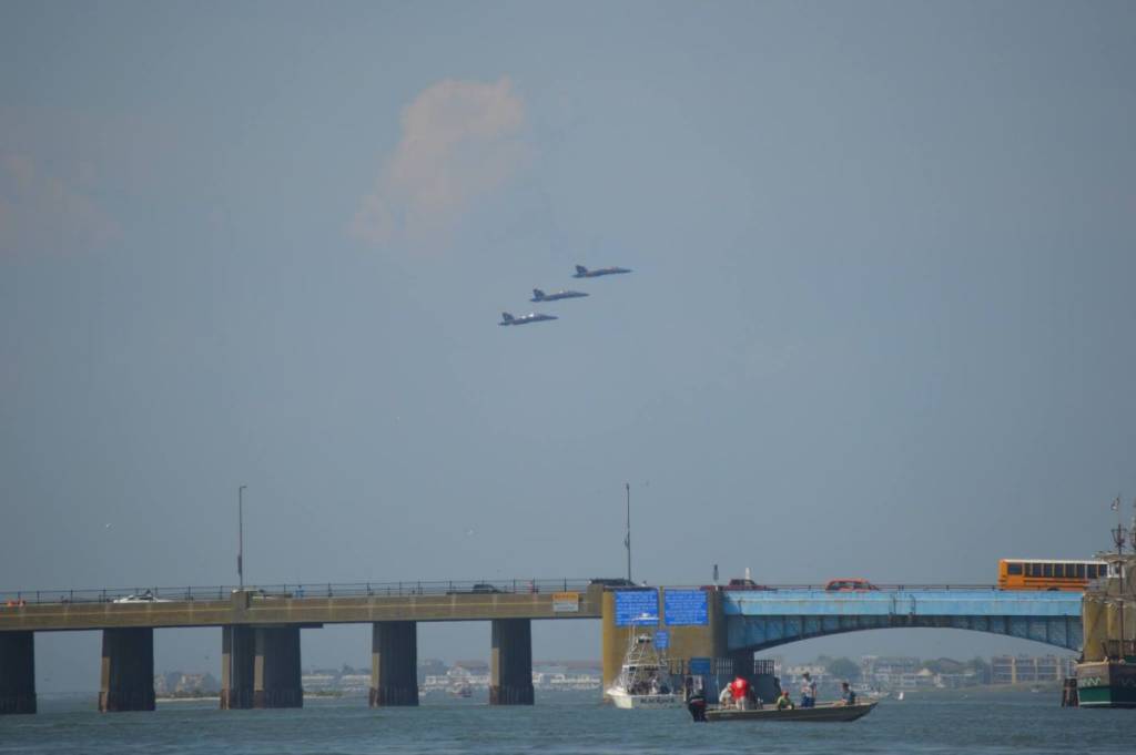
<svg viewBox="0 0 1136 755">
<path fill-rule="evenodd" d="M 153 629 L 103 629 L 99 712 L 152 710 Z"/>
</svg>

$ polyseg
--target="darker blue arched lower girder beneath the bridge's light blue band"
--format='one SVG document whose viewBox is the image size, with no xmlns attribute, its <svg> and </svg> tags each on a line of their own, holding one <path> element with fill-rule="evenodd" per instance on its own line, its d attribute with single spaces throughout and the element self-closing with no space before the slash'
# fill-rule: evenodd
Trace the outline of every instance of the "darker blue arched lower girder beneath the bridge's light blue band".
<svg viewBox="0 0 1136 755">
<path fill-rule="evenodd" d="M 1080 616 L 989 615 L 732 615 L 726 623 L 728 649 L 763 651 L 815 637 L 867 629 L 969 629 L 1031 639 L 1069 651 L 1080 651 Z"/>
</svg>

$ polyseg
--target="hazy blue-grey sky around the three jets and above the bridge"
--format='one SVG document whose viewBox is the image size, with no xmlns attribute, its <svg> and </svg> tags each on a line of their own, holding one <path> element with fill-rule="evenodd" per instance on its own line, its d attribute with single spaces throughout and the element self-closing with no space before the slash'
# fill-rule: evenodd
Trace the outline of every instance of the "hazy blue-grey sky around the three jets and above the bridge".
<svg viewBox="0 0 1136 755">
<path fill-rule="evenodd" d="M 1044 0 L 0 3 L 0 589 L 232 585 L 241 485 L 260 584 L 620 576 L 625 483 L 654 585 L 1089 556 L 1136 496 L 1134 33 Z M 499 327 L 534 287 L 590 296 Z M 160 631 L 158 669 L 219 640 Z M 368 640 L 307 630 L 304 665 Z M 97 632 L 36 645 L 41 691 L 97 687 Z"/>
</svg>

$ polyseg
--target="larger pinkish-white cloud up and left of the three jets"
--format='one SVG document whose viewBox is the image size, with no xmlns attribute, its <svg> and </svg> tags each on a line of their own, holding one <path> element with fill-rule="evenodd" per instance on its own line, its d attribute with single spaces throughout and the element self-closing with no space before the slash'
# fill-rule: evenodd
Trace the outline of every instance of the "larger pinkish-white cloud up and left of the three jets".
<svg viewBox="0 0 1136 755">
<path fill-rule="evenodd" d="M 357 238 L 383 244 L 445 238 L 479 198 L 525 163 L 525 104 L 509 78 L 446 79 L 402 111 L 402 137 L 351 221 Z"/>
</svg>

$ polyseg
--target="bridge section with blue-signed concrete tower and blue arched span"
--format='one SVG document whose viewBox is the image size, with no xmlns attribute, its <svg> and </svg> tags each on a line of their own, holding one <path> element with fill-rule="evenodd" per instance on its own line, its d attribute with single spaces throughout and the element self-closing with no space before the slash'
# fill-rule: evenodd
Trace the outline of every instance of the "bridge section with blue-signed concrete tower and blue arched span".
<svg viewBox="0 0 1136 755">
<path fill-rule="evenodd" d="M 1081 604 L 1081 593 L 993 586 L 619 589 L 603 595 L 604 685 L 618 673 L 632 631 L 663 632 L 669 656 L 687 673 L 717 669 L 717 676 L 733 676 L 753 668 L 755 652 L 871 629 L 967 629 L 1079 651 L 1085 636 Z"/>
</svg>

